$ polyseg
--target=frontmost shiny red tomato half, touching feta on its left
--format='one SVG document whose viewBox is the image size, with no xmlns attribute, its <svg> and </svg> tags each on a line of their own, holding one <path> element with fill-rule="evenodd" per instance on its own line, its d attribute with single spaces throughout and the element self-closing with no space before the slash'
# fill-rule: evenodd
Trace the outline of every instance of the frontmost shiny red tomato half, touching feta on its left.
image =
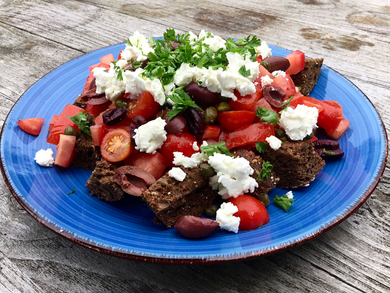
<svg viewBox="0 0 390 293">
<path fill-rule="evenodd" d="M 236 198 L 229 198 L 227 202 L 231 202 L 238 208 L 238 212 L 233 214 L 240 218 L 238 230 L 249 231 L 262 227 L 270 222 L 270 215 L 264 204 L 250 195 L 239 195 Z"/>
</svg>

